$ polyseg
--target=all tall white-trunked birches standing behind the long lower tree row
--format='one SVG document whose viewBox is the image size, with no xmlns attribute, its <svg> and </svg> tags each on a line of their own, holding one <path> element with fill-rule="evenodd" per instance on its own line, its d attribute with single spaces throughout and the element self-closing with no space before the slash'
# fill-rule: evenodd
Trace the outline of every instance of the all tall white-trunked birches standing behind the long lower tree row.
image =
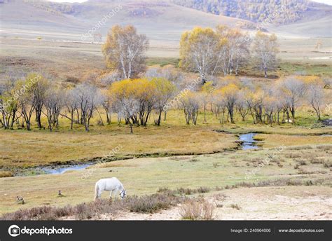
<svg viewBox="0 0 332 241">
<path fill-rule="evenodd" d="M 111 28 L 102 48 L 106 65 L 119 79 L 137 78 L 146 71 L 145 53 L 148 39 L 133 26 Z M 195 27 L 184 32 L 180 40 L 179 67 L 200 74 L 202 81 L 210 76 L 239 74 L 253 62 L 263 71 L 277 67 L 277 36 L 258 31 L 254 39 L 247 32 L 219 25 L 216 29 Z"/>
</svg>

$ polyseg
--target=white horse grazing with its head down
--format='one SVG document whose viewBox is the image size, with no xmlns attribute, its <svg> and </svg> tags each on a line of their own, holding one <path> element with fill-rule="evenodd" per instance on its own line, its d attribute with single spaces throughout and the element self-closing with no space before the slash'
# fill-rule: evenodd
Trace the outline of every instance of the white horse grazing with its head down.
<svg viewBox="0 0 332 241">
<path fill-rule="evenodd" d="M 103 191 L 111 191 L 109 193 L 109 198 L 112 198 L 112 195 L 114 194 L 116 196 L 116 193 L 120 193 L 121 198 L 125 198 L 125 188 L 123 187 L 123 184 L 116 178 L 105 178 L 100 179 L 96 182 L 95 186 L 95 200 L 100 198 L 100 195 L 102 195 Z"/>
</svg>

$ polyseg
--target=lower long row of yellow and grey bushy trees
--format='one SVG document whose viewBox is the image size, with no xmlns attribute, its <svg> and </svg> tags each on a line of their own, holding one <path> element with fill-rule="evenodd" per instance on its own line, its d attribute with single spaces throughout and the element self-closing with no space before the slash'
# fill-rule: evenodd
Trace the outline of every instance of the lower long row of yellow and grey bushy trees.
<svg viewBox="0 0 332 241">
<path fill-rule="evenodd" d="M 159 76 L 156 74 L 159 71 Z M 130 125 L 147 125 L 154 113 L 154 124 L 160 125 L 170 109 L 181 109 L 187 124 L 197 124 L 198 114 L 213 113 L 220 123 L 235 123 L 235 114 L 246 121 L 247 116 L 254 124 L 280 124 L 296 121 L 296 110 L 303 105 L 312 107 L 321 120 L 324 106 L 324 81 L 316 76 L 288 76 L 275 85 L 257 85 L 252 80 L 229 76 L 215 79 L 204 85 L 184 91 L 179 82 L 167 80 L 168 71 L 150 71 L 144 78 L 125 79 L 113 82 L 108 88 L 98 88 L 92 83 L 81 83 L 72 89 L 54 86 L 39 74 L 29 74 L 25 80 L 8 82 L 1 95 L 0 125 L 13 129 L 15 123 L 27 130 L 32 129 L 32 119 L 37 128 L 43 127 L 42 116 L 46 117 L 50 131 L 59 128 L 59 118 L 67 118 L 70 129 L 74 124 L 90 130 L 90 120 L 97 116 L 98 124 L 111 123 L 111 114 L 116 113 L 118 123 L 123 120 Z M 160 74 L 161 73 L 161 74 Z M 161 75 L 161 76 L 160 76 Z M 33 81 L 39 76 L 38 81 Z M 191 79 L 188 78 L 187 83 Z M 18 92 L 22 85 L 29 85 L 24 92 Z M 177 97 L 170 108 L 167 103 Z M 104 110 L 104 111 L 102 111 Z"/>
</svg>

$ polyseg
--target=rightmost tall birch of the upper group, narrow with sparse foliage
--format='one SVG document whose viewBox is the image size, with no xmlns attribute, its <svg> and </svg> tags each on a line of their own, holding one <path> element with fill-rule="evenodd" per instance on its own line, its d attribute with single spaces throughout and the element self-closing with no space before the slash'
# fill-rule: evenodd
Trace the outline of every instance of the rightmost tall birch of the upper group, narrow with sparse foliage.
<svg viewBox="0 0 332 241">
<path fill-rule="evenodd" d="M 258 31 L 254 39 L 253 50 L 258 68 L 264 71 L 265 78 L 268 78 L 268 70 L 274 70 L 277 66 L 277 53 L 279 53 L 277 36 Z"/>
</svg>

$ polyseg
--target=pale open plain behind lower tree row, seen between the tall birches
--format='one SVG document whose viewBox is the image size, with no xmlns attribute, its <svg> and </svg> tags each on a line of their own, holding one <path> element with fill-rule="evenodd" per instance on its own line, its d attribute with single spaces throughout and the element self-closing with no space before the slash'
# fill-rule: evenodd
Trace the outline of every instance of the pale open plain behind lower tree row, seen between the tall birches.
<svg viewBox="0 0 332 241">
<path fill-rule="evenodd" d="M 324 48 L 314 49 L 318 41 L 323 42 Z M 20 74 L 41 71 L 61 84 L 72 84 L 66 83 L 67 78 L 85 81 L 107 71 L 99 43 L 6 36 L 1 38 L 1 45 L 0 81 L 15 71 Z M 159 45 L 158 41 L 151 43 L 147 53 L 148 66 L 171 64 L 178 67 L 179 46 Z M 280 64 L 276 71 L 269 72 L 270 81 L 291 74 L 331 77 L 331 49 L 328 46 L 329 39 L 281 39 Z M 240 76 L 263 78 L 263 73 L 254 64 L 249 64 L 240 71 Z"/>
</svg>

